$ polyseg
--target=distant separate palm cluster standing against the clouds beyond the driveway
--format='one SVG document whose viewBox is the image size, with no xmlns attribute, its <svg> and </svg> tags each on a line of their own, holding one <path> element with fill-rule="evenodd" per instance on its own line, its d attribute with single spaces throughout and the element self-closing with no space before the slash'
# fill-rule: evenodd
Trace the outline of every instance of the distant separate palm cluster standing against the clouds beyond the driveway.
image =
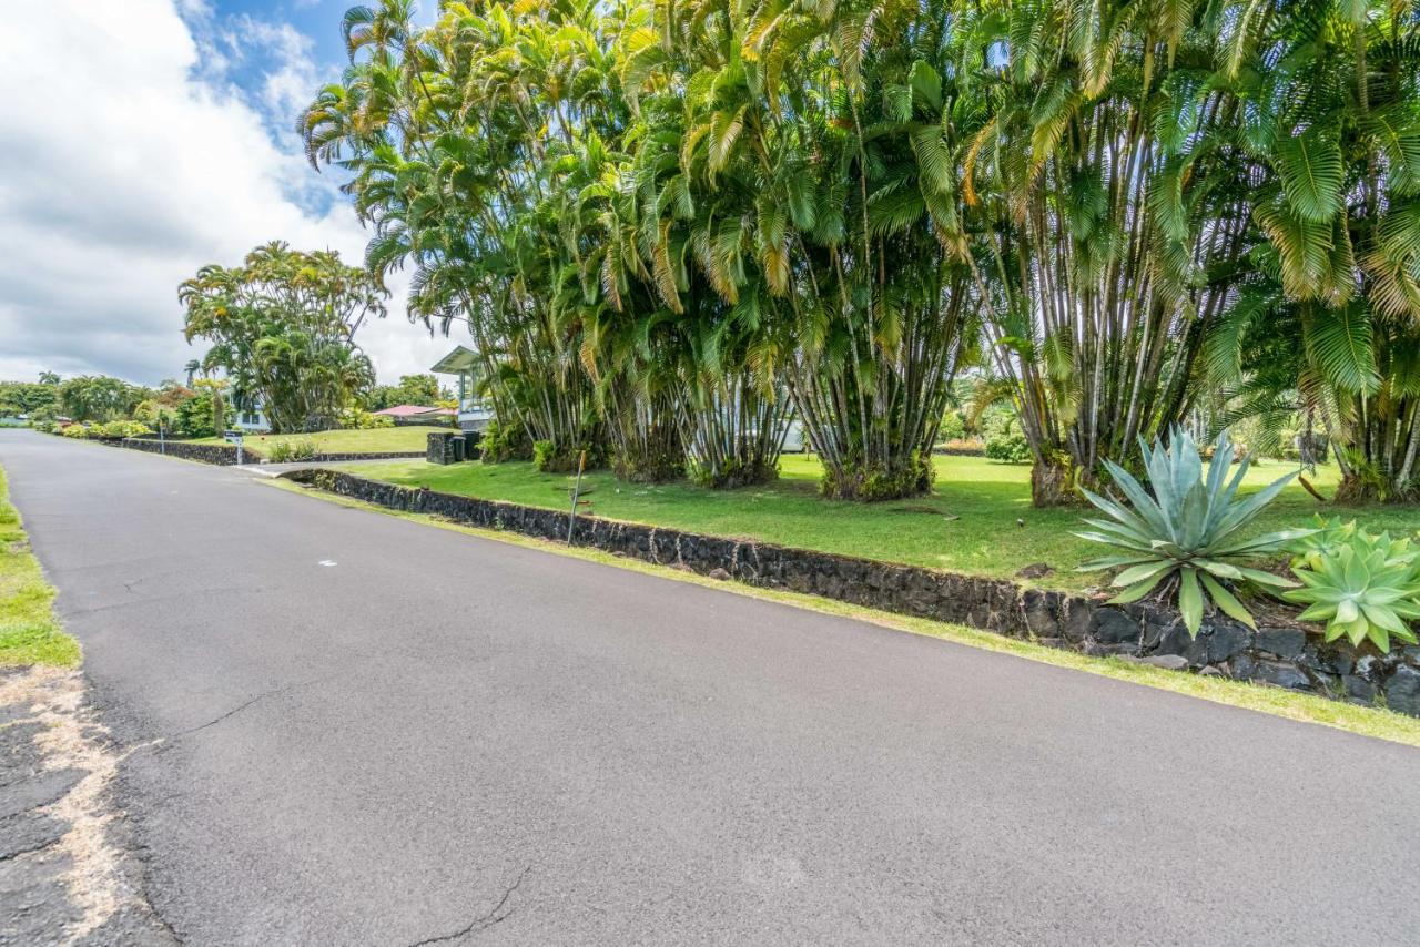
<svg viewBox="0 0 1420 947">
<path fill-rule="evenodd" d="M 239 410 L 260 407 L 277 433 L 331 426 L 375 383 L 355 332 L 385 315 L 388 291 L 331 251 L 257 247 L 240 267 L 207 266 L 178 288 L 190 342 L 212 342 Z M 189 378 L 199 365 L 189 365 Z"/>
</svg>

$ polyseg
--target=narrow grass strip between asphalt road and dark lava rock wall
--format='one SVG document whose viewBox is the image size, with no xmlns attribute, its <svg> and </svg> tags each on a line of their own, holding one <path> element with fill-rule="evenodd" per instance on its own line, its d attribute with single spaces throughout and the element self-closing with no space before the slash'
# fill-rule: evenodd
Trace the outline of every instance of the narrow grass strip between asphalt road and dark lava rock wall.
<svg viewBox="0 0 1420 947">
<path fill-rule="evenodd" d="M 531 537 L 523 537 L 511 532 L 498 532 L 496 530 L 479 530 L 474 527 L 450 522 L 426 514 L 386 510 L 385 507 L 378 507 L 359 500 L 351 500 L 349 497 L 338 497 L 335 494 L 322 493 L 320 490 L 301 487 L 288 480 L 263 478 L 260 480 L 260 483 L 268 484 L 280 490 L 287 490 L 291 493 L 300 493 L 302 496 L 315 497 L 318 500 L 324 500 L 325 503 L 334 503 L 337 505 L 352 507 L 358 510 L 368 510 L 372 513 L 381 513 L 400 520 L 412 520 L 415 522 L 433 525 L 442 530 L 453 530 L 454 532 L 463 532 L 466 535 L 476 535 L 486 540 L 494 540 L 497 542 L 508 542 L 513 545 L 521 545 L 532 549 L 542 549 L 547 552 L 555 552 L 558 555 L 568 555 L 578 559 L 586 559 L 591 562 L 601 562 L 604 565 L 615 565 L 618 568 L 633 569 L 636 572 L 645 572 L 648 575 L 657 575 L 660 578 L 674 579 L 677 582 L 690 582 L 693 585 L 716 588 L 720 591 L 731 592 L 734 595 L 746 595 L 750 598 L 764 599 L 770 602 L 792 605 L 795 608 L 804 608 L 812 612 L 819 612 L 822 615 L 835 615 L 841 618 L 870 622 L 873 625 L 879 625 L 882 628 L 890 628 L 900 632 L 924 635 L 927 637 L 939 637 L 941 640 L 954 642 L 957 645 L 967 645 L 970 647 L 980 647 L 984 650 L 998 652 L 1004 655 L 1014 655 L 1017 657 L 1039 662 L 1042 664 L 1054 664 L 1056 667 L 1066 667 L 1071 670 L 1086 672 L 1091 674 L 1099 674 L 1102 677 L 1113 677 L 1115 680 L 1123 680 L 1133 684 L 1142 684 L 1146 687 L 1156 687 L 1159 690 L 1169 690 L 1176 694 L 1197 697 L 1200 700 L 1210 700 L 1218 704 L 1228 704 L 1231 707 L 1254 710 L 1258 713 L 1272 714 L 1275 717 L 1285 717 L 1288 720 L 1296 720 L 1301 723 L 1312 723 L 1312 724 L 1321 724 L 1323 727 L 1333 727 L 1336 730 L 1346 730 L 1365 737 L 1376 737 L 1379 740 L 1389 740 L 1393 743 L 1402 743 L 1411 747 L 1420 747 L 1420 718 L 1407 717 L 1404 714 L 1397 714 L 1389 710 L 1380 710 L 1375 707 L 1359 707 L 1356 704 L 1346 704 L 1342 701 L 1318 697 L 1315 694 L 1302 694 L 1291 690 L 1282 690 L 1279 687 L 1269 687 L 1265 684 L 1252 684 L 1247 681 L 1227 680 L 1223 677 L 1203 677 L 1198 674 L 1186 674 L 1180 672 L 1164 670 L 1162 667 L 1153 667 L 1149 664 L 1133 664 L 1130 662 L 1125 662 L 1118 657 L 1089 657 L 1086 655 L 1078 655 L 1075 652 L 1062 652 L 1054 647 L 1045 647 L 1042 645 L 1035 645 L 1027 640 L 1004 637 L 1000 635 L 993 635 L 991 632 L 964 628 L 961 625 L 949 625 L 946 622 L 933 622 L 930 619 L 919 619 L 919 618 L 909 618 L 905 615 L 895 615 L 892 612 L 880 612 L 876 609 L 861 608 L 845 602 L 835 602 L 832 599 L 822 599 L 814 595 L 781 592 L 777 589 L 761 589 L 733 581 L 721 582 L 701 575 L 696 575 L 693 572 L 684 572 L 680 569 L 672 569 L 666 566 L 652 565 L 649 562 L 622 558 L 618 555 L 612 555 L 609 552 L 602 552 L 599 549 L 565 547 L 559 542 L 551 542 L 547 540 L 534 540 Z"/>
</svg>

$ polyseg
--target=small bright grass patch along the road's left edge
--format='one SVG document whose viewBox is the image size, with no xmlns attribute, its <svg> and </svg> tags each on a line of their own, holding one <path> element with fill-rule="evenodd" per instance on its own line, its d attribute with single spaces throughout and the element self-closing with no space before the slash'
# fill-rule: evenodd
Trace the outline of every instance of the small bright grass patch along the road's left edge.
<svg viewBox="0 0 1420 947">
<path fill-rule="evenodd" d="M 0 469 L 0 666 L 78 663 L 80 645 L 54 616 L 54 586 L 30 552 Z"/>
</svg>

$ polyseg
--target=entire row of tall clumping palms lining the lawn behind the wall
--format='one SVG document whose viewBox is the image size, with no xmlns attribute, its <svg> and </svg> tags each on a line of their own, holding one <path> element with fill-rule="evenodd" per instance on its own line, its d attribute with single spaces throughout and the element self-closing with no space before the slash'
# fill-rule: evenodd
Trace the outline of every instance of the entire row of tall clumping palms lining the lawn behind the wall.
<svg viewBox="0 0 1420 947">
<path fill-rule="evenodd" d="M 1038 504 L 1207 410 L 1350 498 L 1420 447 L 1414 0 L 412 0 L 301 116 L 547 469 L 930 487 L 953 379 Z"/>
</svg>

